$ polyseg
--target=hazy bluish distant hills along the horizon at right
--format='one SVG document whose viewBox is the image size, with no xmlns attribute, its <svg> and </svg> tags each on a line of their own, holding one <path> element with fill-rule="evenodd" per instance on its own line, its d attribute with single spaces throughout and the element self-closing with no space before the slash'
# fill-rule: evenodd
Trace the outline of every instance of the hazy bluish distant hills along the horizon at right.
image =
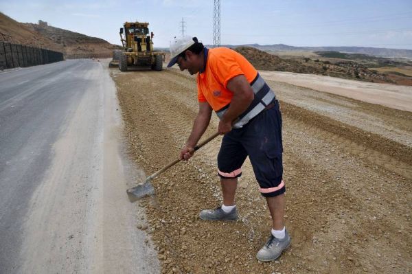
<svg viewBox="0 0 412 274">
<path fill-rule="evenodd" d="M 380 57 L 412 58 L 411 49 L 385 49 L 380 47 L 293 47 L 284 44 L 275 45 L 222 45 L 222 47 L 254 47 L 264 52 L 345 52 L 350 54 L 367 54 Z"/>
</svg>

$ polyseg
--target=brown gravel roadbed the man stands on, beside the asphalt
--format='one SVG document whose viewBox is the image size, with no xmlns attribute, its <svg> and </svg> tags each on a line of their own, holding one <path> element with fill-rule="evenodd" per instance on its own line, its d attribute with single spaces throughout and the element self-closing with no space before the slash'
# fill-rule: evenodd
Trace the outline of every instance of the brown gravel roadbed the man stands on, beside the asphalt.
<svg viewBox="0 0 412 274">
<path fill-rule="evenodd" d="M 113 69 L 112 76 L 130 153 L 152 174 L 176 159 L 190 133 L 198 110 L 195 79 L 176 69 Z M 410 273 L 412 114 L 269 84 L 283 113 L 292 246 L 275 262 L 255 259 L 271 219 L 249 161 L 236 196 L 240 220 L 198 218 L 201 209 L 221 203 L 219 137 L 155 179 L 156 196 L 140 202 L 162 273 Z M 217 125 L 214 115 L 205 137 Z"/>
</svg>

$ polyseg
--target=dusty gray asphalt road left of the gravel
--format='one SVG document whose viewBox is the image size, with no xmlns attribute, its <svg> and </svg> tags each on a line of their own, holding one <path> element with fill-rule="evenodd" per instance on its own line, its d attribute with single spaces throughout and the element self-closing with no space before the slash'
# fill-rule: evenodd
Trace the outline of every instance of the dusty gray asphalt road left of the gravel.
<svg viewBox="0 0 412 274">
<path fill-rule="evenodd" d="M 144 212 L 124 194 L 131 179 L 105 66 L 0 73 L 0 273 L 159 271 L 135 228 Z"/>
</svg>

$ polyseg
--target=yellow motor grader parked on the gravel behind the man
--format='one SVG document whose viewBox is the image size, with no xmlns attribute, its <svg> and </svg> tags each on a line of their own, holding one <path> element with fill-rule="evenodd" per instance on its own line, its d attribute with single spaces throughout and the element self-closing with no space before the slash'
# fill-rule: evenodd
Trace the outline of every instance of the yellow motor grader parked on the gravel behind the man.
<svg viewBox="0 0 412 274">
<path fill-rule="evenodd" d="M 164 52 L 155 52 L 153 48 L 153 32 L 148 29 L 149 23 L 126 22 L 120 28 L 120 41 L 123 50 L 113 52 L 113 60 L 109 67 L 119 66 L 120 71 L 128 67 L 150 67 L 156 71 L 163 69 Z"/>
</svg>

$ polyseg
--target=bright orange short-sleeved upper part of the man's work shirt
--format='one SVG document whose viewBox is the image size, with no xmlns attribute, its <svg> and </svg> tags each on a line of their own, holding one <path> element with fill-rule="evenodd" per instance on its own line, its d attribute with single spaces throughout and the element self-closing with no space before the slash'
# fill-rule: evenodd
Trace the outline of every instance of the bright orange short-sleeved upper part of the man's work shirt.
<svg viewBox="0 0 412 274">
<path fill-rule="evenodd" d="M 214 111 L 219 111 L 231 102 L 233 93 L 227 89 L 231 78 L 244 75 L 251 83 L 258 71 L 241 54 L 226 47 L 205 49 L 205 70 L 198 73 L 198 102 L 208 102 Z"/>
</svg>

